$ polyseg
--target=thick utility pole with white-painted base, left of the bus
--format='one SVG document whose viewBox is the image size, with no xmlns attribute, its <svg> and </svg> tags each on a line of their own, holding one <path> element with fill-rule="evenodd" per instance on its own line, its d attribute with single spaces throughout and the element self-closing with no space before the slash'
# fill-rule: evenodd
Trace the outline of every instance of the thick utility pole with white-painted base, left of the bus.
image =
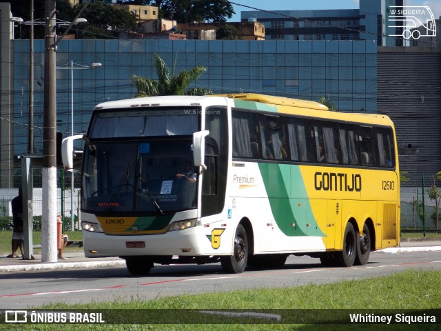
<svg viewBox="0 0 441 331">
<path fill-rule="evenodd" d="M 41 261 L 57 261 L 57 75 L 55 0 L 45 0 L 43 226 Z"/>
</svg>

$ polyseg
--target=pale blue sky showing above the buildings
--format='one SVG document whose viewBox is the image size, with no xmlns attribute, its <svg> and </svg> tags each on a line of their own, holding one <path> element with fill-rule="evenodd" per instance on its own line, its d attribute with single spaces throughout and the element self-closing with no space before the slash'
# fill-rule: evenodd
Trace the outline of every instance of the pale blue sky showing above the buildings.
<svg viewBox="0 0 441 331">
<path fill-rule="evenodd" d="M 371 0 L 376 1 L 376 0 Z M 263 10 L 318 10 L 318 9 L 358 9 L 359 0 L 231 0 L 240 5 L 251 6 Z M 441 0 L 404 0 L 405 6 L 429 6 L 435 19 L 441 16 Z M 254 10 L 233 5 L 234 16 L 228 21 L 239 22 L 242 10 Z M 437 27 L 438 28 L 438 27 Z"/>
</svg>

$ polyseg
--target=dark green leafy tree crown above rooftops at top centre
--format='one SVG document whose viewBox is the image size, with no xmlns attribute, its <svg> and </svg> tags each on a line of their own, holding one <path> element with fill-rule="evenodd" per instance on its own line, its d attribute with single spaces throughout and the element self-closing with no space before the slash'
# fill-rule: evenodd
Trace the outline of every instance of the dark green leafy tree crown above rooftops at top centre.
<svg viewBox="0 0 441 331">
<path fill-rule="evenodd" d="M 234 9 L 227 0 L 158 0 L 161 15 L 179 23 L 225 22 L 231 19 Z"/>
</svg>

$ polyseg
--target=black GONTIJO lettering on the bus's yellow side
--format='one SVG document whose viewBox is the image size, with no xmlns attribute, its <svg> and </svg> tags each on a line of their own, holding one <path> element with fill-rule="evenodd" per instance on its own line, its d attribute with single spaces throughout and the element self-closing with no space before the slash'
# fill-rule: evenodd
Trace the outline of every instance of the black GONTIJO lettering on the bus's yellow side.
<svg viewBox="0 0 441 331">
<path fill-rule="evenodd" d="M 316 172 L 314 187 L 324 191 L 361 191 L 360 174 L 344 174 L 336 172 Z"/>
</svg>

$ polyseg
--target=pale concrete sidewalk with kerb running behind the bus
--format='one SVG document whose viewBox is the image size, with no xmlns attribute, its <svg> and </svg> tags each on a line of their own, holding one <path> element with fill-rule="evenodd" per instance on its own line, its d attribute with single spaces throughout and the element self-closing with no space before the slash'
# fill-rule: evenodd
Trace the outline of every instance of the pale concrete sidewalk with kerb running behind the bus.
<svg viewBox="0 0 441 331">
<path fill-rule="evenodd" d="M 441 251 L 441 240 L 432 238 L 404 239 L 400 247 L 386 248 L 379 252 L 400 253 L 400 252 L 427 252 Z M 0 254 L 0 273 L 1 272 L 20 272 L 31 270 L 57 270 L 70 268 L 99 268 L 114 265 L 125 265 L 125 261 L 119 257 L 99 257 L 95 259 L 86 258 L 84 252 L 79 248 L 78 251 L 65 251 L 67 260 L 58 259 L 54 263 L 42 263 L 41 254 L 34 254 L 34 260 L 21 260 L 7 258 L 4 253 Z"/>
</svg>

